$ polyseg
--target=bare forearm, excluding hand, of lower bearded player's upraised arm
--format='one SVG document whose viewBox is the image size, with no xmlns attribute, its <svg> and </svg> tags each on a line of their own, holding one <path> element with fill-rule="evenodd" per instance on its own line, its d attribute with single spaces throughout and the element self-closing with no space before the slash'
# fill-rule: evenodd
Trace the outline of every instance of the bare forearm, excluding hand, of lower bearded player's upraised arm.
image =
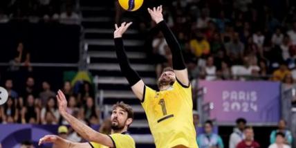
<svg viewBox="0 0 296 148">
<path fill-rule="evenodd" d="M 91 127 L 88 127 L 86 124 L 84 124 L 80 120 L 74 118 L 69 113 L 65 112 L 65 113 L 61 113 L 61 114 L 65 118 L 65 120 L 71 124 L 71 127 L 77 133 L 79 133 L 80 136 L 82 136 L 82 138 L 89 140 L 89 141 L 93 141 L 94 140 L 93 138 L 98 136 L 97 139 L 95 140 L 95 142 L 100 142 L 100 135 L 97 134 L 98 133 L 97 131 L 94 131 L 93 129 L 91 129 Z"/>
</svg>

